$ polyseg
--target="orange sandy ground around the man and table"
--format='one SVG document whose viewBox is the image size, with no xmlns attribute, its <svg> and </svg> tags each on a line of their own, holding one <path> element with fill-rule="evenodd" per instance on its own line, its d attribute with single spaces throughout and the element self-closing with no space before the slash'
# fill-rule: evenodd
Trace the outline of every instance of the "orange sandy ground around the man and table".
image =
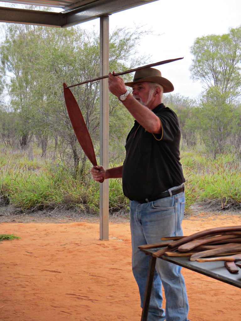
<svg viewBox="0 0 241 321">
<path fill-rule="evenodd" d="M 183 230 L 240 224 L 241 213 L 194 213 Z M 1 321 L 140 320 L 126 219 L 110 221 L 108 241 L 99 240 L 96 220 L 71 217 L 2 215 L 4 233 L 21 239 L 0 244 Z M 241 289 L 184 268 L 183 275 L 191 321 L 241 320 Z"/>
</svg>

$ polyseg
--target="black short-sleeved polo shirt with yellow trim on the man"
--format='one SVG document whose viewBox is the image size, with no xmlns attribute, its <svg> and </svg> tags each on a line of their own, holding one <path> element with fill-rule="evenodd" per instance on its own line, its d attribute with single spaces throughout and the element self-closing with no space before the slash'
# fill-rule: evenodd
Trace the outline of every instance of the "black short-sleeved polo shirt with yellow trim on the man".
<svg viewBox="0 0 241 321">
<path fill-rule="evenodd" d="M 181 185 L 181 131 L 173 110 L 158 105 L 153 112 L 160 118 L 162 134 L 149 133 L 135 120 L 126 140 L 126 158 L 122 171 L 124 195 L 130 200 L 144 200 Z"/>
</svg>

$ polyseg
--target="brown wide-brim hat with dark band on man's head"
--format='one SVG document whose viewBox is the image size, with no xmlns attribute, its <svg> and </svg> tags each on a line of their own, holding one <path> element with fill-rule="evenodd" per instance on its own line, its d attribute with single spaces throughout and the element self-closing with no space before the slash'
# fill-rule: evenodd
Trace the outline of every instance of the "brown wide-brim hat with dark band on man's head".
<svg viewBox="0 0 241 321">
<path fill-rule="evenodd" d="M 138 69 L 134 74 L 133 82 L 126 82 L 125 85 L 132 87 L 136 82 L 156 82 L 162 85 L 163 92 L 174 91 L 173 84 L 166 78 L 162 77 L 160 70 L 155 68 Z"/>
</svg>

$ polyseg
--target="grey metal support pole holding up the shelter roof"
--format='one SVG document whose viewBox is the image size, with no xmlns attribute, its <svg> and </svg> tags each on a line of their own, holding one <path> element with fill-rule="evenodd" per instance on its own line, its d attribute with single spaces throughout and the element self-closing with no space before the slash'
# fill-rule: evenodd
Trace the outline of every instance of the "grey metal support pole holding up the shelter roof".
<svg viewBox="0 0 241 321">
<path fill-rule="evenodd" d="M 109 15 L 100 17 L 100 76 L 109 74 Z M 108 79 L 100 81 L 100 164 L 109 167 Z M 109 239 L 109 180 L 100 184 L 100 239 Z"/>
</svg>

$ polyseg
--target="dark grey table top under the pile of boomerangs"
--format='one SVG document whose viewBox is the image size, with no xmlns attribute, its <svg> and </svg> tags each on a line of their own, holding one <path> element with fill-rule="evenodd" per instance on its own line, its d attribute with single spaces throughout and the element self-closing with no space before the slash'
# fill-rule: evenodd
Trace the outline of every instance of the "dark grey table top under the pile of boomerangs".
<svg viewBox="0 0 241 321">
<path fill-rule="evenodd" d="M 151 255 L 157 250 L 158 248 L 155 248 L 155 249 L 143 250 L 143 252 Z M 166 256 L 166 255 L 163 255 L 160 258 L 165 261 L 183 266 L 189 270 L 210 276 L 216 280 L 241 288 L 241 269 L 238 268 L 239 269 L 238 273 L 230 273 L 228 269 L 224 266 L 224 261 L 196 262 L 196 261 L 190 261 L 189 257 Z"/>
</svg>

